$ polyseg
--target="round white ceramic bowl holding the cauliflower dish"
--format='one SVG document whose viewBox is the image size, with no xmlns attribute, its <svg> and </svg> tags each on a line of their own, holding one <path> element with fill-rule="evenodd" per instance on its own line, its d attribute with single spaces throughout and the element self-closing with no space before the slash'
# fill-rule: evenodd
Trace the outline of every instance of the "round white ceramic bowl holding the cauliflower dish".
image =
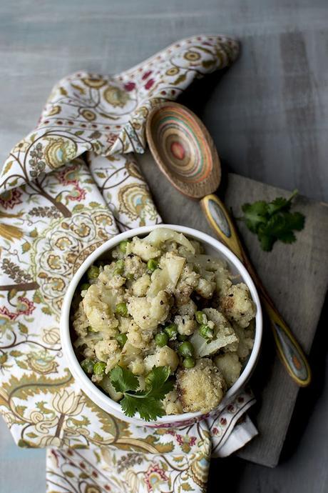
<svg viewBox="0 0 328 493">
<path fill-rule="evenodd" d="M 110 397 L 104 394 L 101 389 L 98 389 L 91 379 L 87 377 L 87 375 L 83 372 L 76 354 L 73 350 L 73 345 L 71 342 L 70 335 L 70 324 L 69 324 L 69 315 L 71 310 L 71 302 L 73 298 L 73 294 L 78 287 L 78 283 L 81 281 L 83 274 L 86 273 L 87 269 L 96 262 L 96 260 L 101 257 L 101 255 L 109 252 L 111 249 L 116 247 L 120 241 L 123 239 L 132 238 L 133 236 L 145 236 L 150 233 L 156 227 L 165 227 L 174 229 L 175 231 L 179 231 L 180 233 L 189 236 L 190 238 L 197 239 L 203 244 L 205 248 L 205 252 L 207 254 L 212 254 L 217 256 L 220 259 L 225 259 L 227 265 L 232 274 L 239 274 L 240 279 L 238 282 L 242 281 L 247 284 L 247 287 L 250 289 L 250 293 L 252 295 L 252 299 L 257 307 L 257 314 L 255 320 L 255 342 L 254 347 L 252 349 L 252 353 L 242 370 L 242 374 L 240 374 L 239 379 L 235 382 L 235 384 L 230 387 L 230 389 L 223 397 L 219 406 L 215 409 L 212 409 L 210 413 L 204 414 L 202 412 L 188 412 L 185 414 L 175 414 L 170 416 L 163 416 L 158 418 L 157 421 L 153 422 L 145 422 L 141 419 L 137 414 L 135 417 L 130 418 L 125 416 L 121 411 L 121 405 L 118 402 L 113 401 Z M 255 368 L 255 364 L 257 362 L 257 358 L 260 352 L 262 340 L 262 310 L 260 305 L 260 299 L 257 294 L 257 290 L 255 288 L 254 283 L 248 274 L 245 267 L 242 265 L 240 260 L 237 259 L 235 254 L 232 254 L 229 249 L 227 249 L 220 241 L 213 239 L 212 236 L 208 234 L 202 233 L 201 231 L 197 231 L 196 229 L 188 228 L 185 226 L 175 226 L 172 224 L 160 224 L 158 226 L 143 226 L 136 229 L 131 229 L 130 231 L 125 231 L 124 233 L 118 234 L 112 239 L 106 241 L 101 247 L 98 247 L 84 262 L 81 264 L 81 267 L 78 269 L 76 274 L 74 274 L 71 283 L 68 286 L 68 290 L 66 292 L 66 296 L 63 300 L 63 307 L 61 310 L 61 345 L 63 348 L 64 357 L 66 357 L 68 368 L 70 369 L 73 377 L 76 379 L 76 382 L 80 385 L 83 392 L 95 402 L 101 409 L 108 412 L 109 414 L 113 414 L 115 417 L 119 419 L 123 419 L 126 422 L 130 422 L 133 424 L 141 424 L 143 426 L 150 427 L 179 427 L 185 426 L 186 424 L 192 424 L 193 422 L 200 421 L 208 416 L 215 417 L 219 414 L 222 409 L 229 404 L 232 399 L 235 397 L 237 392 L 245 386 L 248 379 L 250 379 L 250 375 L 252 374 L 253 369 Z"/>
</svg>

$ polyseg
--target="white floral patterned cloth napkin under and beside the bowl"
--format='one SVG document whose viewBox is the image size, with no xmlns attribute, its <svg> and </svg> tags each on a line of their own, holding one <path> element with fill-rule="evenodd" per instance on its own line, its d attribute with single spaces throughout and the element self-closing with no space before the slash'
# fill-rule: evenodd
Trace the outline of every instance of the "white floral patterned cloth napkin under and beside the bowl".
<svg viewBox="0 0 328 493">
<path fill-rule="evenodd" d="M 48 493 L 200 492 L 211 454 L 257 433 L 247 391 L 216 419 L 182 429 L 106 414 L 74 382 L 58 331 L 63 294 L 88 254 L 119 231 L 161 221 L 133 155 L 145 149 L 149 109 L 237 52 L 232 39 L 197 36 L 116 76 L 68 76 L 4 164 L 0 411 L 20 447 L 50 447 Z"/>
</svg>

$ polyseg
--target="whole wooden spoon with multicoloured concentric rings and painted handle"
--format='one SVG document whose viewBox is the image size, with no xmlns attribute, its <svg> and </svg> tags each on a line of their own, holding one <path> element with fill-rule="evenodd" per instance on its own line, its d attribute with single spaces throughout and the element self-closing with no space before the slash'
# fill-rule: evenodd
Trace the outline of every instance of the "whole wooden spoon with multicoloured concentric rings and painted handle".
<svg viewBox="0 0 328 493">
<path fill-rule="evenodd" d="M 185 106 L 165 102 L 150 111 L 146 134 L 160 170 L 184 195 L 201 199 L 200 205 L 212 229 L 245 264 L 269 316 L 280 359 L 294 382 L 306 387 L 311 382 L 307 358 L 252 267 L 230 214 L 222 201 L 213 195 L 220 184 L 221 165 L 206 127 Z"/>
</svg>

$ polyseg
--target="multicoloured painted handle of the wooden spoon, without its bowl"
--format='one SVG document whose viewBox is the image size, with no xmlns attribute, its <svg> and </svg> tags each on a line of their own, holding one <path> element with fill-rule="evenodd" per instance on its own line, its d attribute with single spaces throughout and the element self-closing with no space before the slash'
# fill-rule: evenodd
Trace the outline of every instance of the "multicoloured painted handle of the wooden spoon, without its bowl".
<svg viewBox="0 0 328 493">
<path fill-rule="evenodd" d="M 300 387 L 306 387 L 311 382 L 311 369 L 309 368 L 307 358 L 289 327 L 287 327 L 287 324 L 277 312 L 272 299 L 257 276 L 250 260 L 247 258 L 230 214 L 216 195 L 211 194 L 205 196 L 200 200 L 200 205 L 207 221 L 222 243 L 232 250 L 240 261 L 245 264 L 245 267 L 257 285 L 257 289 L 259 289 L 262 304 L 270 319 L 270 325 L 280 359 L 294 382 Z"/>
</svg>

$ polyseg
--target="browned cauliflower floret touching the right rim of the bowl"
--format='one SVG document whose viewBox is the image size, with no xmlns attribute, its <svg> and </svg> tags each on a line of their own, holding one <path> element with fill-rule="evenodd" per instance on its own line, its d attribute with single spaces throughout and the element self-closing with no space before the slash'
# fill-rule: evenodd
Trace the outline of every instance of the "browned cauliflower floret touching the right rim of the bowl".
<svg viewBox="0 0 328 493">
<path fill-rule="evenodd" d="M 250 298 L 250 290 L 246 284 L 233 284 L 225 297 L 221 299 L 223 312 L 230 320 L 237 322 L 240 327 L 247 327 L 255 317 L 256 306 Z"/>
</svg>

